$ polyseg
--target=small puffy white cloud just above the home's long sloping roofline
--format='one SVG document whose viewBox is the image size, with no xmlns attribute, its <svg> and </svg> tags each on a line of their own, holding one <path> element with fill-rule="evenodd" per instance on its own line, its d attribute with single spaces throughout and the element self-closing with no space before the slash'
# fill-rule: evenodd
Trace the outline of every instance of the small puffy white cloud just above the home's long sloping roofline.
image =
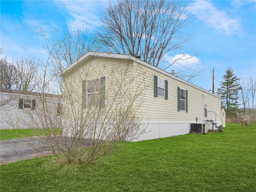
<svg viewBox="0 0 256 192">
<path fill-rule="evenodd" d="M 195 66 L 200 64 L 200 59 L 190 54 L 176 54 L 175 56 L 164 56 L 164 60 L 173 66 Z"/>
</svg>

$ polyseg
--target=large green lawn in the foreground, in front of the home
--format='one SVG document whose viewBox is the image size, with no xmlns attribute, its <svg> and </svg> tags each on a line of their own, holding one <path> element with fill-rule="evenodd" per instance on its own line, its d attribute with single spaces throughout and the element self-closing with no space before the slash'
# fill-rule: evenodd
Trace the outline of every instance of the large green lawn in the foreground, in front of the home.
<svg viewBox="0 0 256 192">
<path fill-rule="evenodd" d="M 255 192 L 256 125 L 129 142 L 86 167 L 46 156 L 0 168 L 3 192 Z"/>
</svg>

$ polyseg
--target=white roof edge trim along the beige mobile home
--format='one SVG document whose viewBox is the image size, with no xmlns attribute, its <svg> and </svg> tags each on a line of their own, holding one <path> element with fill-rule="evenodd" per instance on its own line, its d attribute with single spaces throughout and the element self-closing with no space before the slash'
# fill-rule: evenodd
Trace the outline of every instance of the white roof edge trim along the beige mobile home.
<svg viewBox="0 0 256 192">
<path fill-rule="evenodd" d="M 84 61 L 84 62 L 89 62 L 90 60 L 92 60 L 93 58 L 108 58 L 108 59 L 120 59 L 120 60 L 131 60 L 131 61 L 135 61 L 135 62 L 137 62 L 137 63 L 139 63 L 139 64 L 142 64 L 142 65 L 144 65 L 144 66 L 146 66 L 146 67 L 148 67 L 148 68 L 150 68 L 150 69 L 152 69 L 152 70 L 155 70 L 155 71 L 157 71 L 157 72 L 160 72 L 160 73 L 162 73 L 162 74 L 164 74 L 164 75 L 166 75 L 166 76 L 169 76 L 169 77 L 171 77 L 171 78 L 174 78 L 174 79 L 176 79 L 176 80 L 178 80 L 178 81 L 180 81 L 180 82 L 183 82 L 183 83 L 185 83 L 185 84 L 188 84 L 188 85 L 190 85 L 190 86 L 192 86 L 192 87 L 195 87 L 195 88 L 197 88 L 197 89 L 200 89 L 200 90 L 202 90 L 203 92 L 206 92 L 206 93 L 208 93 L 208 94 L 211 94 L 211 95 L 214 95 L 214 96 L 216 96 L 216 97 L 218 97 L 218 98 L 221 98 L 220 96 L 218 96 L 218 95 L 216 95 L 216 94 L 213 94 L 212 92 L 209 92 L 209 91 L 207 91 L 207 90 L 205 90 L 205 89 L 203 89 L 203 88 L 201 88 L 201 87 L 199 87 L 199 86 L 196 86 L 196 85 L 194 85 L 194 84 L 192 84 L 192 83 L 190 83 L 190 82 L 188 82 L 188 81 L 185 81 L 185 80 L 183 80 L 182 78 L 179 78 L 179 77 L 177 77 L 177 76 L 175 76 L 175 75 L 173 75 L 173 74 L 170 74 L 170 73 L 168 73 L 168 72 L 166 72 L 166 71 L 164 71 L 164 70 L 162 70 L 162 69 L 160 69 L 160 68 L 157 68 L 156 66 L 153 66 L 153 65 L 151 65 L 151 64 L 148 64 L 147 62 L 144 62 L 144 61 L 142 61 L 142 60 L 140 60 L 139 58 L 136 58 L 136 57 L 134 57 L 134 56 L 131 56 L 131 55 L 126 55 L 126 54 L 115 54 L 115 53 L 103 53 L 103 52 L 87 52 L 86 54 L 84 54 L 84 56 L 82 56 L 81 58 L 79 58 L 78 60 L 76 60 L 74 63 L 72 63 L 70 66 L 68 66 L 66 69 L 64 69 L 63 71 L 62 71 L 62 75 L 63 76 L 65 76 L 66 74 L 68 74 L 68 72 L 72 72 L 72 70 L 74 69 L 74 68 L 78 68 L 80 65 L 82 65 L 82 61 Z"/>
</svg>

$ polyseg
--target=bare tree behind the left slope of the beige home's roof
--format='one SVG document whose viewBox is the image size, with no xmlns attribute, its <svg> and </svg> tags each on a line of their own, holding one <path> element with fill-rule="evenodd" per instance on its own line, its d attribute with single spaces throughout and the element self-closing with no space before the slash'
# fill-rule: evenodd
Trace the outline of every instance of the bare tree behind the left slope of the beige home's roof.
<svg viewBox="0 0 256 192">
<path fill-rule="evenodd" d="M 48 57 L 44 61 L 40 61 L 39 71 L 42 72 L 44 86 L 38 86 L 39 92 L 52 92 L 46 90 L 51 85 L 55 87 L 54 93 L 63 94 L 64 82 L 60 77 L 60 72 L 70 66 L 73 62 L 81 58 L 90 50 L 98 50 L 95 39 L 88 33 L 86 29 L 69 30 L 63 38 L 56 40 L 57 31 L 52 34 L 46 34 L 43 29 L 38 31 L 38 35 L 44 38 L 45 43 L 43 50 L 47 52 Z M 51 82 L 55 82 L 52 84 Z"/>
</svg>

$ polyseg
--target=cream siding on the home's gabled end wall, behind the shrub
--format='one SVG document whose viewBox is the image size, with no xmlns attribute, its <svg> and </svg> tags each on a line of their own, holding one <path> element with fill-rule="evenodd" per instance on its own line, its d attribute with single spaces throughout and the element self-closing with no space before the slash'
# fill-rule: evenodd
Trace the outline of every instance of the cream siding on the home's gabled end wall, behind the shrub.
<svg viewBox="0 0 256 192">
<path fill-rule="evenodd" d="M 71 112 L 71 103 L 74 105 L 74 110 L 77 114 L 81 113 L 81 108 L 85 109 L 86 104 L 88 103 L 87 96 L 93 91 L 87 92 L 86 84 L 87 80 L 96 80 L 104 79 L 104 86 L 102 86 L 102 91 L 104 94 L 101 94 L 102 100 L 104 100 L 104 105 L 110 104 L 114 97 L 116 96 L 116 90 L 118 87 L 122 87 L 122 97 L 125 98 L 126 94 L 131 94 L 135 88 L 130 84 L 126 86 L 125 82 L 130 80 L 130 77 L 133 75 L 133 63 L 127 60 L 126 62 L 122 60 L 115 59 L 98 59 L 95 58 L 84 64 L 81 64 L 79 68 L 76 68 L 72 73 L 68 73 L 65 76 L 67 86 L 69 88 L 69 93 L 66 92 L 65 96 L 70 94 L 72 97 L 64 100 L 66 103 L 67 112 Z M 125 75 L 124 75 L 125 74 Z M 120 85 L 120 83 L 122 85 Z M 135 82 L 134 82 L 135 86 Z M 119 96 L 119 94 L 118 94 Z M 90 97 L 90 96 L 89 96 Z M 113 108 L 116 104 L 113 104 Z M 84 111 L 83 111 L 84 113 Z M 85 114 L 85 113 L 84 113 Z"/>
</svg>

